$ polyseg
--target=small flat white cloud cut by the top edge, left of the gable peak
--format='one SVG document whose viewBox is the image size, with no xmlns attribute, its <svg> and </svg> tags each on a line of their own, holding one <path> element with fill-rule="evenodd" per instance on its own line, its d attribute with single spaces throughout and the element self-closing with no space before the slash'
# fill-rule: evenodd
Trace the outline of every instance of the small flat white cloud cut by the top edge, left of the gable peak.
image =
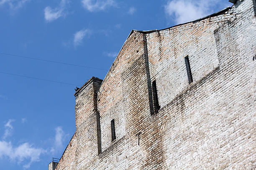
<svg viewBox="0 0 256 170">
<path fill-rule="evenodd" d="M 116 6 L 116 2 L 114 0 L 82 0 L 82 5 L 90 12 L 95 12 Z"/>
</svg>

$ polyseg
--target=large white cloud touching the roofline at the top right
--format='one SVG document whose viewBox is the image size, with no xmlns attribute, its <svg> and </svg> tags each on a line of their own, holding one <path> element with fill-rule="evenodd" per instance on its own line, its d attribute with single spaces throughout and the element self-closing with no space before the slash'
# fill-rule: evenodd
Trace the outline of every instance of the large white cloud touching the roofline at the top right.
<svg viewBox="0 0 256 170">
<path fill-rule="evenodd" d="M 166 15 L 179 24 L 210 15 L 215 7 L 223 9 L 227 6 L 223 0 L 169 0 L 164 9 Z"/>
</svg>

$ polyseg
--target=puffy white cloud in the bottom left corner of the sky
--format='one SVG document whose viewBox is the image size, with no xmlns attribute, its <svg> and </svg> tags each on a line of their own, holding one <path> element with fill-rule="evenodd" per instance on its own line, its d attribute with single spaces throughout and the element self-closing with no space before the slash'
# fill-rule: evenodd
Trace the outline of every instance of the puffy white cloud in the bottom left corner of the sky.
<svg viewBox="0 0 256 170">
<path fill-rule="evenodd" d="M 12 162 L 16 160 L 19 163 L 26 162 L 23 165 L 24 168 L 29 168 L 31 163 L 38 162 L 40 155 L 43 153 L 46 153 L 46 150 L 34 148 L 29 143 L 23 143 L 18 147 L 13 147 L 10 142 L 0 141 L 0 158 L 8 157 Z"/>
</svg>

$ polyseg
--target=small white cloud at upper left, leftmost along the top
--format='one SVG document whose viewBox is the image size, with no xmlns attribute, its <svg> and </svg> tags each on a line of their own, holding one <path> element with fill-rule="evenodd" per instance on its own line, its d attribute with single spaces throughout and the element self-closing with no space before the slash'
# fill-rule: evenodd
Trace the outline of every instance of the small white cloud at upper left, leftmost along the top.
<svg viewBox="0 0 256 170">
<path fill-rule="evenodd" d="M 46 7 L 44 9 L 44 19 L 48 22 L 56 20 L 62 16 L 65 16 L 65 9 L 69 4 L 69 0 L 61 0 L 58 7 L 52 9 L 51 7 Z"/>
</svg>

